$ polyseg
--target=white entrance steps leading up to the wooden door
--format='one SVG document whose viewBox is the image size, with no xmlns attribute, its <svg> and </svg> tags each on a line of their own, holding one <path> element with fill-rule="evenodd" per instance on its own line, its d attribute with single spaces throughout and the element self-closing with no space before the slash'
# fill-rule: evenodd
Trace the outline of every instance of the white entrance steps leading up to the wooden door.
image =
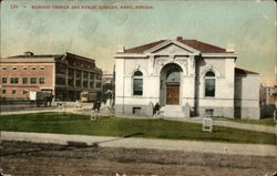
<svg viewBox="0 0 277 176">
<path fill-rule="evenodd" d="M 164 117 L 185 117 L 183 107 L 181 105 L 165 105 L 161 107 Z"/>
</svg>

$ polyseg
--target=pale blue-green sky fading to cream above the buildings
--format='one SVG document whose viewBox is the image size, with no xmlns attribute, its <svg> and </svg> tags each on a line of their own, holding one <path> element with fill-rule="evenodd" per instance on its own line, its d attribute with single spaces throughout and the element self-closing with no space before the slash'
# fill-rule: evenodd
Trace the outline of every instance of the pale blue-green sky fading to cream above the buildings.
<svg viewBox="0 0 277 176">
<path fill-rule="evenodd" d="M 50 9 L 32 9 L 49 6 Z M 70 9 L 53 9 L 69 6 Z M 71 9 L 116 6 L 119 9 Z M 153 9 L 121 9 L 147 6 Z M 1 2 L 1 56 L 74 54 L 95 59 L 112 71 L 117 45 L 126 49 L 164 39 L 195 39 L 217 46 L 235 44 L 236 65 L 276 84 L 274 1 L 182 0 L 4 0 Z"/>
</svg>

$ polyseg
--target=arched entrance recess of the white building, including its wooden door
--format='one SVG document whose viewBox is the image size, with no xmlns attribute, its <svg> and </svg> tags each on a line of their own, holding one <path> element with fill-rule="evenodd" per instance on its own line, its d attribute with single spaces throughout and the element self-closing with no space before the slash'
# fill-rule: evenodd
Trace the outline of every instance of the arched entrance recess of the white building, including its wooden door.
<svg viewBox="0 0 277 176">
<path fill-rule="evenodd" d="M 161 105 L 181 104 L 182 69 L 175 63 L 166 64 L 161 71 Z"/>
</svg>

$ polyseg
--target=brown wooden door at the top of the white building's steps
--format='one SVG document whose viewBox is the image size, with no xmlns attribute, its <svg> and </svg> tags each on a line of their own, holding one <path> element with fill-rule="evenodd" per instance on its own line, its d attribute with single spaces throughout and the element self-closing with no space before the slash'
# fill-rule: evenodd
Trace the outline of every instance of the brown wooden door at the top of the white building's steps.
<svg viewBox="0 0 277 176">
<path fill-rule="evenodd" d="M 166 85 L 166 104 L 179 103 L 179 85 Z"/>
</svg>

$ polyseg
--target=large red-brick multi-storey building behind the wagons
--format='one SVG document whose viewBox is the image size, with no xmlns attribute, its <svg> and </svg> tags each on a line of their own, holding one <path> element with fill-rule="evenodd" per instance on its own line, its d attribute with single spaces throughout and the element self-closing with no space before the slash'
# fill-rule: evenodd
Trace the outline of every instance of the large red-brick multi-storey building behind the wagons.
<svg viewBox="0 0 277 176">
<path fill-rule="evenodd" d="M 1 58 L 1 97 L 25 100 L 30 91 L 49 91 L 55 99 L 75 101 L 82 91 L 101 97 L 102 70 L 95 61 L 72 53 Z"/>
</svg>

